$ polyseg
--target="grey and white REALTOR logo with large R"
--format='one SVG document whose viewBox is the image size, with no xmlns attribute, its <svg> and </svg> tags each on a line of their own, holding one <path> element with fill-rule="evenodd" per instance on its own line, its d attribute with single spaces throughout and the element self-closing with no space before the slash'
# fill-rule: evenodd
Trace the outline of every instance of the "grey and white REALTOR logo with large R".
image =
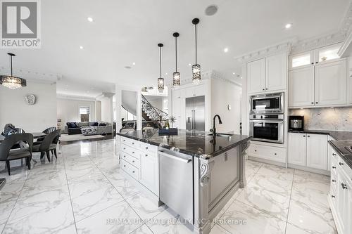
<svg viewBox="0 0 352 234">
<path fill-rule="evenodd" d="M 39 0 L 0 0 L 1 48 L 40 48 Z"/>
</svg>

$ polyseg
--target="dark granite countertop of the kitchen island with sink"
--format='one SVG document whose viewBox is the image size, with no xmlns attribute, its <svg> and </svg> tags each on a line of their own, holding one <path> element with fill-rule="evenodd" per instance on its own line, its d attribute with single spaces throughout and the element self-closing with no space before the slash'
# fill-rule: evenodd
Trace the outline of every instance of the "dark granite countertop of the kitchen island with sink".
<svg viewBox="0 0 352 234">
<path fill-rule="evenodd" d="M 208 136 L 205 131 L 187 131 L 178 130 L 176 136 L 159 136 L 158 129 L 155 130 L 137 130 L 125 134 L 117 133 L 120 136 L 132 138 L 137 141 L 150 143 L 151 145 L 161 146 L 166 149 L 180 151 L 187 155 L 195 157 L 210 158 L 220 155 L 222 152 L 247 142 L 250 136 L 231 135 L 231 136 Z"/>
</svg>

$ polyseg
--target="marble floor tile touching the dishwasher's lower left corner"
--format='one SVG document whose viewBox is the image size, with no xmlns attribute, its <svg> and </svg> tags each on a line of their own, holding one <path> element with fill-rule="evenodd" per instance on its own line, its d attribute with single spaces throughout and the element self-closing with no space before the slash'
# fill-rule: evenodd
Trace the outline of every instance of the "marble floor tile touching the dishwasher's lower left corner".
<svg viewBox="0 0 352 234">
<path fill-rule="evenodd" d="M 158 207 L 158 204 L 151 201 L 149 197 L 144 195 L 144 193 L 137 193 L 136 195 L 127 198 L 126 202 L 130 204 L 132 209 L 134 209 L 134 212 L 137 212 L 142 219 L 152 219 L 167 208 L 165 205 Z"/>
</svg>

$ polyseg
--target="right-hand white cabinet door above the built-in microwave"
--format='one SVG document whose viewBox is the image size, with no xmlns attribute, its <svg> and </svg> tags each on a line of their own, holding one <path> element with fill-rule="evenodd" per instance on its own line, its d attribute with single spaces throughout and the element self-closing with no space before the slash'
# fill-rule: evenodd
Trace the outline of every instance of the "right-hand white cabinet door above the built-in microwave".
<svg viewBox="0 0 352 234">
<path fill-rule="evenodd" d="M 265 58 L 265 90 L 286 89 L 287 58 L 286 53 Z"/>
</svg>

